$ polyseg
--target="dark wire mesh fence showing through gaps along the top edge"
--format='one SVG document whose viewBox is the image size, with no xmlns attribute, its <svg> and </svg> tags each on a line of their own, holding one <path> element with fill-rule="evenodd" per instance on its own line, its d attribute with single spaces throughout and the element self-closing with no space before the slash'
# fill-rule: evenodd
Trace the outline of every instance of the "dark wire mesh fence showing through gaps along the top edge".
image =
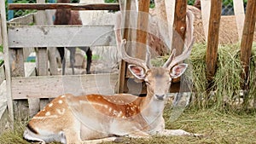
<svg viewBox="0 0 256 144">
<path fill-rule="evenodd" d="M 5 0 L 6 3 L 37 3 L 37 0 Z M 118 0 L 105 0 L 106 3 L 115 3 Z M 189 5 L 194 5 L 195 1 L 200 0 L 188 0 Z M 56 0 L 45 0 L 46 3 L 56 3 Z M 247 0 L 243 0 L 244 9 L 246 9 Z M 71 3 L 79 3 L 79 0 L 71 0 Z M 223 0 L 222 1 L 222 15 L 233 15 L 234 7 L 233 0 Z M 154 0 L 151 0 L 151 8 L 154 7 Z M 15 17 L 19 17 L 25 14 L 36 12 L 36 10 L 9 10 L 7 13 L 8 20 Z"/>
</svg>

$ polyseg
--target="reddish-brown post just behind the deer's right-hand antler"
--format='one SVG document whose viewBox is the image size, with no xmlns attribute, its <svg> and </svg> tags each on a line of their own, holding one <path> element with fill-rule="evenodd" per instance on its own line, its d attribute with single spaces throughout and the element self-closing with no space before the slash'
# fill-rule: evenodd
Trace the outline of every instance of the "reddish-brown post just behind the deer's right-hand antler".
<svg viewBox="0 0 256 144">
<path fill-rule="evenodd" d="M 188 0 L 176 1 L 172 36 L 172 48 L 176 49 L 176 55 L 181 55 L 186 34 L 186 13 Z"/>
</svg>

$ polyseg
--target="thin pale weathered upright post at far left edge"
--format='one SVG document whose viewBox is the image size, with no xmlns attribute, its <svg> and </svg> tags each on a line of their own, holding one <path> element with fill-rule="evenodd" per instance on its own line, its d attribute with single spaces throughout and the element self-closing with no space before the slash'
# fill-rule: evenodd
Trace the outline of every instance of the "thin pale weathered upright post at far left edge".
<svg viewBox="0 0 256 144">
<path fill-rule="evenodd" d="M 1 34 L 3 37 L 3 51 L 4 51 L 4 65 L 5 65 L 5 76 L 6 76 L 6 89 L 7 89 L 7 105 L 10 118 L 10 124 L 13 128 L 14 126 L 14 105 L 11 93 L 11 70 L 9 64 L 9 45 L 8 45 L 8 35 L 6 26 L 6 13 L 5 13 L 5 1 L 0 1 L 0 14 L 1 14 Z"/>
</svg>

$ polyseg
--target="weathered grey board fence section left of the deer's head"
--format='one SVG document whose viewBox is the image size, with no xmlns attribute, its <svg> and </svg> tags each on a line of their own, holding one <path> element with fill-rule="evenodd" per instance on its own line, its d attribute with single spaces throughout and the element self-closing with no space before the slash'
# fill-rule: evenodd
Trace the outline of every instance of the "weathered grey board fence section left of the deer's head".
<svg viewBox="0 0 256 144">
<path fill-rule="evenodd" d="M 2 9 L 1 14 L 4 14 L 3 11 Z M 9 56 L 5 58 L 10 58 L 5 59 L 10 62 L 10 64 L 5 63 L 7 67 L 5 70 L 6 73 L 10 73 L 7 76 L 9 80 L 8 78 L 6 80 L 7 88 L 9 87 L 7 90 L 11 121 L 17 118 L 29 118 L 43 109 L 49 102 L 49 98 L 58 95 L 111 94 L 118 81 L 118 74 L 49 76 L 48 67 L 52 66 L 51 62 L 55 62 L 55 58 L 49 60 L 48 66 L 48 50 L 53 47 L 113 46 L 115 37 L 113 26 L 50 26 L 45 25 L 47 22 L 44 17 L 45 11 L 39 10 L 35 14 L 9 21 L 7 27 L 2 26 L 7 30 L 3 43 L 8 43 L 4 45 L 4 50 L 5 55 Z M 29 26 L 31 24 L 38 26 Z M 101 37 L 102 34 L 104 37 Z M 37 48 L 37 64 L 34 67 L 37 76 L 25 77 L 24 61 L 34 48 Z M 49 68 L 52 69 L 52 67 Z M 109 79 L 108 84 L 106 79 Z"/>
</svg>

